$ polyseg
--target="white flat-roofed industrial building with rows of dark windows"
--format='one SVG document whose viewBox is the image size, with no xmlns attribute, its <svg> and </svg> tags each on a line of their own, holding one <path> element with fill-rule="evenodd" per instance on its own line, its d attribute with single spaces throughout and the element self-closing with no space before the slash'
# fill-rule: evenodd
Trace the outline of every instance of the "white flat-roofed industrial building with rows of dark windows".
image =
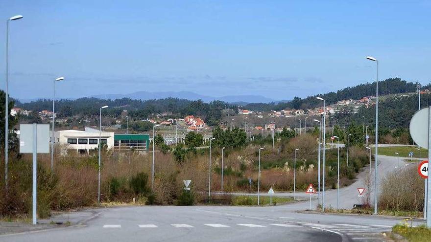
<svg viewBox="0 0 431 242">
<path fill-rule="evenodd" d="M 107 144 L 108 150 L 114 147 L 114 132 L 101 132 L 100 137 L 101 144 Z M 54 144 L 65 145 L 68 153 L 73 151 L 79 154 L 91 154 L 98 148 L 98 142 L 99 131 L 89 127 L 85 127 L 85 131 L 60 130 L 54 132 Z"/>
</svg>

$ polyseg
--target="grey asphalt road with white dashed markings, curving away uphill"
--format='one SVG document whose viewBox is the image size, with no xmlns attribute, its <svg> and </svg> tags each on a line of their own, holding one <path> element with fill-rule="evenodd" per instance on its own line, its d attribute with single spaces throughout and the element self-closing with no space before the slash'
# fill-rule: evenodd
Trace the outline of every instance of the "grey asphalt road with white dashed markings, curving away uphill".
<svg viewBox="0 0 431 242">
<path fill-rule="evenodd" d="M 396 167 L 395 157 L 379 156 L 379 161 L 380 178 L 405 165 L 403 162 Z M 359 174 L 358 181 L 352 186 L 341 189 L 340 207 L 351 208 L 353 203 L 359 202 L 357 187 L 363 186 L 365 174 Z M 316 199 L 312 202 L 315 207 Z M 326 205 L 336 207 L 336 190 L 327 192 Z M 94 209 L 64 216 L 71 219 L 89 217 L 85 222 L 38 232 L 1 235 L 0 242 L 374 242 L 386 241 L 383 233 L 402 220 L 382 216 L 298 212 L 308 208 L 309 202 L 302 201 L 263 207 L 137 206 Z"/>
</svg>

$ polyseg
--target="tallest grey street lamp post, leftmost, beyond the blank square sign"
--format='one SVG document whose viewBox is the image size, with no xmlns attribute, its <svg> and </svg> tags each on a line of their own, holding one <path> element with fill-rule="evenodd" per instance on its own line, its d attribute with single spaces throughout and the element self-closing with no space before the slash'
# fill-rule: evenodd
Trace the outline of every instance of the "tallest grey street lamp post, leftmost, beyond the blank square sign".
<svg viewBox="0 0 431 242">
<path fill-rule="evenodd" d="M 6 21 L 6 86 L 4 89 L 4 184 L 7 188 L 7 163 L 9 153 L 9 21 L 22 19 L 22 15 L 16 15 Z"/>
</svg>

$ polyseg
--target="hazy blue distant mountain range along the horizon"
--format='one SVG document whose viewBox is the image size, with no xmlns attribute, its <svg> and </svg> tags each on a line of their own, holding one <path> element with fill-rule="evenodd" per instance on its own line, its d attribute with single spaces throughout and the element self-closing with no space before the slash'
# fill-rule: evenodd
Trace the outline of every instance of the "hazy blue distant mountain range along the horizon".
<svg viewBox="0 0 431 242">
<path fill-rule="evenodd" d="M 201 99 L 204 102 L 211 102 L 215 100 L 220 100 L 227 103 L 270 103 L 276 102 L 277 100 L 267 98 L 261 95 L 227 95 L 221 97 L 212 97 L 206 95 L 200 95 L 191 91 L 163 91 L 163 92 L 148 92 L 148 91 L 137 91 L 129 94 L 102 94 L 102 95 L 94 95 L 91 97 L 96 97 L 99 99 L 119 99 L 119 98 L 131 98 L 131 99 L 141 99 L 141 100 L 149 100 L 149 99 L 161 99 L 161 98 L 179 98 L 179 99 L 188 99 L 188 100 L 199 100 Z"/>
</svg>

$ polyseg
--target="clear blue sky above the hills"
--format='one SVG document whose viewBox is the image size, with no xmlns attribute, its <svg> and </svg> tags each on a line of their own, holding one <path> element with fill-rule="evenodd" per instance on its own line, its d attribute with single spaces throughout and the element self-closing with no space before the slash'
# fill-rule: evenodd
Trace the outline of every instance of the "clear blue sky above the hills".
<svg viewBox="0 0 431 242">
<path fill-rule="evenodd" d="M 278 100 L 380 78 L 430 82 L 431 1 L 0 0 L 10 95 L 135 91 Z M 3 78 L 1 78 L 4 80 Z M 4 81 L 1 83 L 4 88 Z"/>
</svg>

